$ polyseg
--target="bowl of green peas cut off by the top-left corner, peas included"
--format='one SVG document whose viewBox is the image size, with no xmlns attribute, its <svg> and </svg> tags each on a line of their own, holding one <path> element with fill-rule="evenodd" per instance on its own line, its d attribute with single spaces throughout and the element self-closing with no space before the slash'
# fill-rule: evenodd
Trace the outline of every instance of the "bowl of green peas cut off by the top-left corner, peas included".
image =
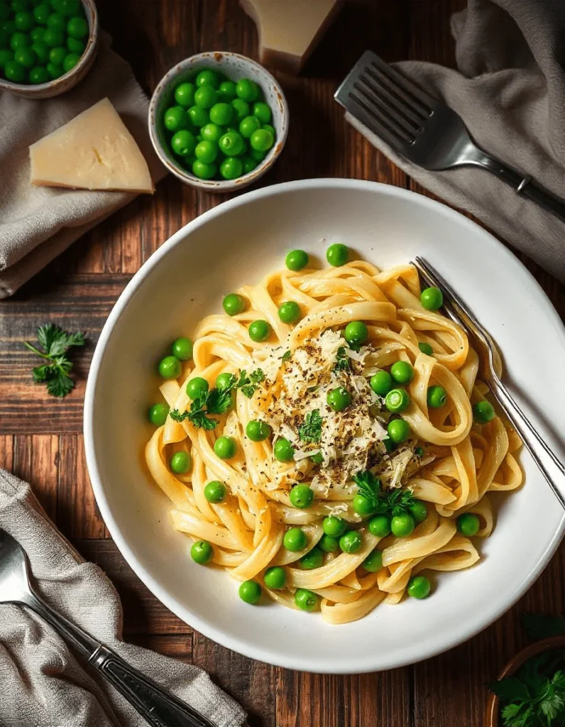
<svg viewBox="0 0 565 727">
<path fill-rule="evenodd" d="M 95 59 L 94 0 L 0 0 L 0 89 L 28 98 L 58 96 Z"/>
</svg>

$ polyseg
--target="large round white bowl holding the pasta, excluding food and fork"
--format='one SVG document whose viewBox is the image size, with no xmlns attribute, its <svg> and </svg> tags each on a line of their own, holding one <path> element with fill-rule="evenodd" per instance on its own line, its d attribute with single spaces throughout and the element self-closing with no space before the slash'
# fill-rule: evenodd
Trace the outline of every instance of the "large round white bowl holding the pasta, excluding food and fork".
<svg viewBox="0 0 565 727">
<path fill-rule="evenodd" d="M 220 569 L 193 563 L 190 540 L 172 528 L 170 505 L 145 468 L 153 427 L 155 364 L 169 342 L 220 312 L 225 293 L 256 283 L 303 248 L 325 265 L 341 241 L 380 268 L 420 254 L 435 265 L 497 340 L 524 409 L 559 451 L 532 408 L 532 382 L 565 368 L 556 311 L 513 254 L 442 204 L 407 190 L 354 180 L 303 180 L 225 202 L 179 230 L 129 283 L 100 336 L 84 409 L 92 487 L 116 545 L 145 585 L 204 635 L 254 659 L 297 670 L 366 672 L 416 662 L 469 638 L 532 585 L 564 533 L 564 514 L 526 454 L 524 487 L 494 497 L 497 522 L 481 561 L 437 574 L 425 601 L 380 605 L 361 621 L 331 626 L 320 614 L 248 606 Z M 550 415 L 565 430 L 565 387 Z M 337 644 L 337 647 L 336 647 Z"/>
</svg>

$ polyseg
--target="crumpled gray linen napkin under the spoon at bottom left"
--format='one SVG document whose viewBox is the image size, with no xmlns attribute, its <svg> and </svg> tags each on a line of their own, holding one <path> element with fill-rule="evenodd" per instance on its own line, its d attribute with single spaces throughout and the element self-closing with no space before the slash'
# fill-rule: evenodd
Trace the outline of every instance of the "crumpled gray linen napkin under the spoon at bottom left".
<svg viewBox="0 0 565 727">
<path fill-rule="evenodd" d="M 57 611 L 218 727 L 244 723 L 241 707 L 202 670 L 123 643 L 121 603 L 111 582 L 55 530 L 30 486 L 5 470 L 0 470 L 0 527 L 23 545 L 34 585 Z M 0 724 L 141 727 L 147 723 L 38 616 L 21 606 L 0 604 Z"/>
</svg>

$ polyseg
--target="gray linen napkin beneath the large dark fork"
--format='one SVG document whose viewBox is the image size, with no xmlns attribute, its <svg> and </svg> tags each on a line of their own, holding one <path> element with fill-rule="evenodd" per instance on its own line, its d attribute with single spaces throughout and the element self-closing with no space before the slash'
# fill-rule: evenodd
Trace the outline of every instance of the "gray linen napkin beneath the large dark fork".
<svg viewBox="0 0 565 727">
<path fill-rule="evenodd" d="M 565 0 L 469 0 L 451 29 L 459 73 L 417 61 L 396 65 L 454 108 L 484 150 L 565 198 Z M 346 118 L 423 187 L 565 281 L 564 222 L 482 169 L 414 166 Z"/>
</svg>

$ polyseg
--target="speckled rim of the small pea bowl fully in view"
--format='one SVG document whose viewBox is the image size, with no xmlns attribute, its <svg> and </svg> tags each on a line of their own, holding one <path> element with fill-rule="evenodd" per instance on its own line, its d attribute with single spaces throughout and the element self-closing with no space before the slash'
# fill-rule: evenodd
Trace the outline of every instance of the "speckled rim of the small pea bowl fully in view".
<svg viewBox="0 0 565 727">
<path fill-rule="evenodd" d="M 244 174 L 242 177 L 238 177 L 236 180 L 201 180 L 198 177 L 194 177 L 192 174 L 183 172 L 183 169 L 180 169 L 179 166 L 173 164 L 165 153 L 165 150 L 161 146 L 161 142 L 159 141 L 159 136 L 157 134 L 157 106 L 159 105 L 161 95 L 164 94 L 166 89 L 169 87 L 169 84 L 171 84 L 173 79 L 175 79 L 175 76 L 178 76 L 180 73 L 185 71 L 186 68 L 205 61 L 209 62 L 210 60 L 212 60 L 212 62 L 214 63 L 221 64 L 224 57 L 235 58 L 237 60 L 240 60 L 244 64 L 251 65 L 254 68 L 257 68 L 259 73 L 264 75 L 268 79 L 268 81 L 273 84 L 273 89 L 276 93 L 278 105 L 276 113 L 281 119 L 281 133 L 279 134 L 279 138 L 276 140 L 274 153 L 268 154 L 268 156 L 266 156 L 265 159 L 260 162 L 260 164 L 257 164 L 255 169 L 253 169 L 252 172 L 249 172 L 249 174 Z M 185 60 L 181 60 L 179 63 L 176 63 L 173 68 L 165 73 L 161 81 L 159 81 L 159 84 L 157 84 L 153 95 L 151 96 L 148 113 L 148 127 L 149 136 L 151 137 L 151 143 L 153 144 L 153 148 L 155 149 L 163 164 L 167 167 L 167 169 L 169 169 L 169 172 L 175 174 L 175 177 L 180 179 L 182 182 L 185 182 L 185 184 L 208 190 L 209 192 L 233 192 L 235 190 L 247 187 L 248 185 L 258 180 L 260 177 L 263 177 L 263 174 L 265 174 L 265 172 L 268 172 L 268 169 L 271 169 L 271 166 L 273 166 L 275 161 L 279 158 L 279 155 L 283 150 L 284 144 L 286 142 L 286 136 L 289 129 L 289 107 L 286 103 L 286 98 L 284 97 L 284 92 L 281 89 L 279 81 L 277 81 L 272 73 L 269 73 L 269 71 L 267 71 L 267 69 L 263 65 L 239 53 L 232 53 L 229 51 L 209 51 L 204 53 L 197 53 L 196 55 L 191 55 L 191 57 L 185 58 Z"/>
</svg>

